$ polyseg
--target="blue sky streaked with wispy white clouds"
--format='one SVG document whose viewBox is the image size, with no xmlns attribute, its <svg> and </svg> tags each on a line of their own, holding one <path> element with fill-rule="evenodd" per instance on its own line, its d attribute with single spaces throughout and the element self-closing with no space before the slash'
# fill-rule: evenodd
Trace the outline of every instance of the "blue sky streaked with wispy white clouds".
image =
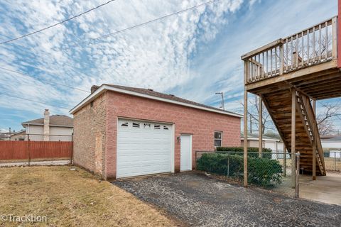
<svg viewBox="0 0 341 227">
<path fill-rule="evenodd" d="M 21 73 L 0 68 L 0 129 L 18 131 L 21 122 L 43 117 L 44 109 L 70 116 L 93 84 L 104 83 L 150 88 L 216 107 L 215 92 L 224 92 L 225 109 L 241 111 L 240 56 L 337 15 L 337 0 L 217 0 L 99 38 L 206 1 L 116 0 L 0 45 L 0 67 Z M 105 2 L 0 0 L 0 42 Z"/>
</svg>

